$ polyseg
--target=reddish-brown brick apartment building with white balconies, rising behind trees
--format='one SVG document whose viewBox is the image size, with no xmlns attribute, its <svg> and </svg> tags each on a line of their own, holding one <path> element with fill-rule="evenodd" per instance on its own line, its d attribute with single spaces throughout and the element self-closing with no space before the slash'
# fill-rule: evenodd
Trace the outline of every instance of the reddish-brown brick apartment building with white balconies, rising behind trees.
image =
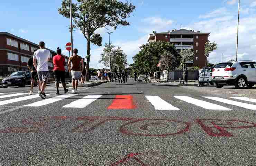
<svg viewBox="0 0 256 166">
<path fill-rule="evenodd" d="M 180 53 L 181 49 L 193 49 L 194 59 L 188 61 L 188 66 L 204 67 L 205 55 L 204 55 L 204 44 L 208 41 L 210 33 L 200 33 L 194 30 L 172 30 L 165 33 L 157 33 L 153 31 L 153 34 L 149 34 L 148 42 L 165 41 L 171 42 Z"/>
</svg>

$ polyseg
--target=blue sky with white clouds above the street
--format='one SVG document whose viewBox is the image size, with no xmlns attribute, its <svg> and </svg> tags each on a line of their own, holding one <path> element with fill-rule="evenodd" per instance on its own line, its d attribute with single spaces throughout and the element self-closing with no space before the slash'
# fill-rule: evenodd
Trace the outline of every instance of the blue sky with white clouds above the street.
<svg viewBox="0 0 256 166">
<path fill-rule="evenodd" d="M 74 1 L 74 0 L 73 0 Z M 235 57 L 236 24 L 238 0 L 129 0 L 136 6 L 134 16 L 128 21 L 131 26 L 118 27 L 111 34 L 111 42 L 124 49 L 128 61 L 139 51 L 139 46 L 147 42 L 147 36 L 153 30 L 165 32 L 172 29 L 192 29 L 210 32 L 210 40 L 218 44 L 209 60 L 211 63 L 221 62 Z M 38 43 L 43 40 L 46 47 L 55 50 L 65 49 L 70 42 L 68 31 L 69 20 L 58 14 L 57 8 L 61 0 L 23 0 L 1 1 L 0 31 L 25 38 Z M 256 0 L 242 0 L 240 4 L 240 32 L 238 58 L 256 60 Z M 98 30 L 103 37 L 103 45 L 108 42 L 107 29 Z M 74 47 L 79 49 L 79 55 L 86 55 L 86 39 L 79 31 L 73 35 Z M 103 67 L 99 64 L 103 47 L 91 48 L 90 67 Z M 68 52 L 64 51 L 65 55 Z"/>
</svg>

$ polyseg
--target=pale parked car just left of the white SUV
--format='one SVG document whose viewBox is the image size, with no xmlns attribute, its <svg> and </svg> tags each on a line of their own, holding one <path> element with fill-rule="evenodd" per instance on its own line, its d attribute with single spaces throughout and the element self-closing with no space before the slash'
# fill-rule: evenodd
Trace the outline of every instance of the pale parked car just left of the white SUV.
<svg viewBox="0 0 256 166">
<path fill-rule="evenodd" d="M 199 70 L 199 78 L 198 83 L 200 86 L 203 86 L 204 84 L 211 84 L 212 83 L 212 70 L 214 67 L 205 67 L 205 69 Z"/>
</svg>

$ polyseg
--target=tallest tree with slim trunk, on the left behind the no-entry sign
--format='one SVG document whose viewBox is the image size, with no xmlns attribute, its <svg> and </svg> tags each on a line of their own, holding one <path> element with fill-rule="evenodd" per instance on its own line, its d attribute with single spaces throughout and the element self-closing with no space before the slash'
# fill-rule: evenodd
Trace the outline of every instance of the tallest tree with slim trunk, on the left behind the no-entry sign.
<svg viewBox="0 0 256 166">
<path fill-rule="evenodd" d="M 72 3 L 72 19 L 74 30 L 80 30 L 87 40 L 87 70 L 90 67 L 91 43 L 102 46 L 102 37 L 95 31 L 102 27 L 128 26 L 127 18 L 131 17 L 135 6 L 132 3 L 118 0 L 77 0 Z M 58 12 L 66 18 L 70 18 L 70 0 L 63 0 Z M 89 81 L 89 73 L 86 74 Z"/>
</svg>

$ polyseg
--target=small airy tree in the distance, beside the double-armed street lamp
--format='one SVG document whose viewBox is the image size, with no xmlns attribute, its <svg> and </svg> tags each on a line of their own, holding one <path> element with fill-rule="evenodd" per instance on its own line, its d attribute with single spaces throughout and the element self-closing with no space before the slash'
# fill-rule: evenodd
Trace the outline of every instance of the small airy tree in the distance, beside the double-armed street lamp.
<svg viewBox="0 0 256 166">
<path fill-rule="evenodd" d="M 99 63 L 104 64 L 104 66 L 109 67 L 109 55 L 111 57 L 111 68 L 118 67 L 124 68 L 127 65 L 127 55 L 121 47 L 115 48 L 114 45 L 108 45 L 106 43 L 103 52 L 101 53 L 101 59 Z"/>
</svg>

